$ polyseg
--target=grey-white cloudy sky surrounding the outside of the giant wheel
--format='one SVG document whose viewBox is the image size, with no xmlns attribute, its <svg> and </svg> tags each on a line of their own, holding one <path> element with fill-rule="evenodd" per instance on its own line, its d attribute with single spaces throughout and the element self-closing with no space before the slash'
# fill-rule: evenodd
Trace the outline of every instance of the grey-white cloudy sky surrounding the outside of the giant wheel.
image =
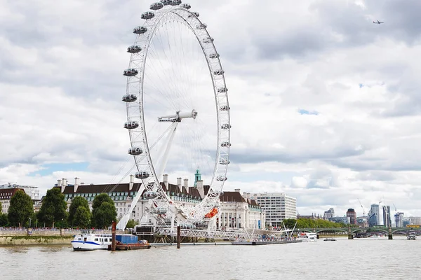
<svg viewBox="0 0 421 280">
<path fill-rule="evenodd" d="M 149 3 L 0 1 L 0 183 L 121 180 L 121 73 Z M 359 199 L 421 216 L 420 1 L 189 3 L 229 88 L 225 190 L 287 193 L 302 215 L 362 215 Z"/>
</svg>

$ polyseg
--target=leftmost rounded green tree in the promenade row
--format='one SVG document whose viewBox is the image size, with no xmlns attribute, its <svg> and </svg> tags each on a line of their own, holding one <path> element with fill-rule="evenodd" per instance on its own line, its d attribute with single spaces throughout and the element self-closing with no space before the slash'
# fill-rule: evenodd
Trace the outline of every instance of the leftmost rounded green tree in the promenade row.
<svg viewBox="0 0 421 280">
<path fill-rule="evenodd" d="M 34 215 L 34 204 L 31 197 L 23 190 L 17 190 L 11 198 L 11 206 L 8 209 L 9 223 L 19 227 L 25 226 L 32 215 Z"/>
</svg>

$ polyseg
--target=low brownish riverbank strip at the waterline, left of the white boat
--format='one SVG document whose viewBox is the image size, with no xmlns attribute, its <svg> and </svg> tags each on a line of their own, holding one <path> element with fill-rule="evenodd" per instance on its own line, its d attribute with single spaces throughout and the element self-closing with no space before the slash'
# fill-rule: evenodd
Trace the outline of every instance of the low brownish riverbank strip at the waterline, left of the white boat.
<svg viewBox="0 0 421 280">
<path fill-rule="evenodd" d="M 72 235 L 67 236 L 2 236 L 0 246 L 22 245 L 70 245 Z"/>
</svg>

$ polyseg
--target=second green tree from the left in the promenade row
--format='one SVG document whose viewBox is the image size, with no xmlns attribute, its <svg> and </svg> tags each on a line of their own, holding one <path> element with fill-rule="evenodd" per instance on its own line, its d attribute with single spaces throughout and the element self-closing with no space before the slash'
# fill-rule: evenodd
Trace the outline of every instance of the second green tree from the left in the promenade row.
<svg viewBox="0 0 421 280">
<path fill-rule="evenodd" d="M 62 227 L 65 225 L 64 220 L 67 220 L 66 209 L 65 195 L 61 193 L 60 188 L 52 188 L 47 190 L 38 212 L 38 220 L 48 227 L 54 226 L 55 222 L 60 222 L 59 226 Z"/>
</svg>

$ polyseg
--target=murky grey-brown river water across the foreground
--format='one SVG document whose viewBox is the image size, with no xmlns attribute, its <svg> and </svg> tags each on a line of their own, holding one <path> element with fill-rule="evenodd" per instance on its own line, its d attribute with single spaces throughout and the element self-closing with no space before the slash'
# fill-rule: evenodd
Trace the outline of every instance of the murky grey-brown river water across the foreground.
<svg viewBox="0 0 421 280">
<path fill-rule="evenodd" d="M 404 237 L 116 252 L 8 246 L 0 279 L 421 279 L 420 249 Z"/>
</svg>

